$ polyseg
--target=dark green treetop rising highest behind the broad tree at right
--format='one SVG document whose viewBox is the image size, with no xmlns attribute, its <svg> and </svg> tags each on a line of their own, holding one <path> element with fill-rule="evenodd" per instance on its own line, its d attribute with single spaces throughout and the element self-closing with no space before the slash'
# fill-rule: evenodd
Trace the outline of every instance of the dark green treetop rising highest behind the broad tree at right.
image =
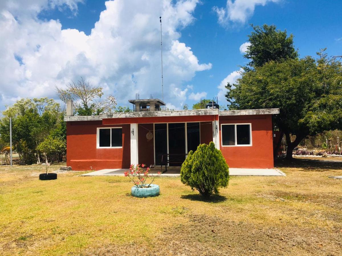
<svg viewBox="0 0 342 256">
<path fill-rule="evenodd" d="M 274 25 L 253 26 L 253 31 L 248 35 L 250 45 L 247 46 L 245 58 L 250 62 L 246 71 L 256 67 L 262 67 L 268 61 L 281 61 L 298 58 L 298 52 L 293 46 L 293 35 L 287 35 L 287 31 L 277 30 Z"/>
</svg>

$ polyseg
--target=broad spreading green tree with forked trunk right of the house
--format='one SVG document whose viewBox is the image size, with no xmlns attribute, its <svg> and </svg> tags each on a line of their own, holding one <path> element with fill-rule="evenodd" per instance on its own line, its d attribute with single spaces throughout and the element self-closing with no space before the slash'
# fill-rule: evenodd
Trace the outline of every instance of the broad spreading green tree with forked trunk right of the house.
<svg viewBox="0 0 342 256">
<path fill-rule="evenodd" d="M 289 159 L 306 136 L 342 127 L 341 62 L 317 54 L 318 59 L 269 61 L 226 86 L 231 110 L 280 109 L 274 124 L 286 136 Z"/>
</svg>

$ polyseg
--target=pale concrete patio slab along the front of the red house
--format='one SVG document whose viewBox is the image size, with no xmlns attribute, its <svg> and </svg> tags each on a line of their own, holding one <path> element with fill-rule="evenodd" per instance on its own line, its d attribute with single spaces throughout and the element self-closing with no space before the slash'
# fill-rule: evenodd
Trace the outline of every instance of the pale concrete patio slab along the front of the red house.
<svg viewBox="0 0 342 256">
<path fill-rule="evenodd" d="M 123 176 L 124 172 L 128 169 L 103 169 L 94 172 L 89 172 L 86 174 L 81 174 L 80 176 Z M 156 174 L 159 168 L 155 170 L 151 169 L 152 174 Z M 160 174 L 160 176 L 180 176 L 179 170 L 168 170 Z M 247 168 L 229 168 L 229 175 L 240 176 L 240 175 L 250 175 L 250 176 L 286 176 L 286 174 L 278 169 L 247 169 Z"/>
</svg>

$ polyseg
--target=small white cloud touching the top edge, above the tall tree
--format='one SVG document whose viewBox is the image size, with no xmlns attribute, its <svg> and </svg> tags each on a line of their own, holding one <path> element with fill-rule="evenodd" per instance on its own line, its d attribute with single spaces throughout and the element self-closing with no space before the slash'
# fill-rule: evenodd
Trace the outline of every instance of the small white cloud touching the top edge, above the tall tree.
<svg viewBox="0 0 342 256">
<path fill-rule="evenodd" d="M 232 23 L 245 24 L 253 15 L 256 5 L 265 6 L 269 2 L 277 3 L 280 0 L 227 0 L 225 8 L 214 6 L 218 15 L 218 22 L 223 26 Z"/>
</svg>

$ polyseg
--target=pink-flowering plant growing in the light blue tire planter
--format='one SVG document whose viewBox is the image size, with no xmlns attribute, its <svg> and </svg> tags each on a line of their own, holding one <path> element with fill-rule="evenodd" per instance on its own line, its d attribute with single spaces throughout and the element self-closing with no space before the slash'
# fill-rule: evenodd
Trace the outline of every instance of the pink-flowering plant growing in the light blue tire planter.
<svg viewBox="0 0 342 256">
<path fill-rule="evenodd" d="M 125 177 L 129 177 L 131 179 L 131 181 L 133 182 L 133 184 L 136 187 L 150 187 L 150 185 L 152 184 L 152 182 L 154 181 L 154 178 L 156 177 L 155 175 L 153 175 L 152 173 L 149 174 L 149 170 L 150 168 L 147 167 L 146 170 L 144 170 L 143 168 L 145 167 L 144 164 L 142 165 L 131 165 L 129 168 L 129 171 L 124 172 Z M 157 175 L 159 175 L 160 172 L 157 173 Z M 151 177 L 153 177 L 152 181 L 148 184 L 146 183 L 146 180 L 148 178 L 151 179 Z M 148 185 L 146 185 L 148 184 Z"/>
</svg>

